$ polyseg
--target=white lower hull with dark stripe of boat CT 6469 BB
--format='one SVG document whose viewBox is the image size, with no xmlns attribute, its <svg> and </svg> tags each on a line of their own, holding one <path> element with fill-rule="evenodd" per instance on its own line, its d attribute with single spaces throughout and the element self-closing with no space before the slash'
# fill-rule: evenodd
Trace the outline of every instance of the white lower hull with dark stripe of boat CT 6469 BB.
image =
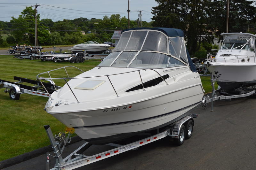
<svg viewBox="0 0 256 170">
<path fill-rule="evenodd" d="M 52 115 L 87 142 L 104 144 L 167 126 L 200 104 L 202 97 L 202 87 L 196 85 L 115 108 Z"/>
</svg>

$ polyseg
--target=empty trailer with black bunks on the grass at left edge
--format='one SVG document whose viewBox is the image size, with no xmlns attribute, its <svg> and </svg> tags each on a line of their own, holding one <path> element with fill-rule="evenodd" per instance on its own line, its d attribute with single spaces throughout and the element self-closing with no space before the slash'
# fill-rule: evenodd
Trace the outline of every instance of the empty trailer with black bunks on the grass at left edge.
<svg viewBox="0 0 256 170">
<path fill-rule="evenodd" d="M 13 79 L 18 81 L 11 82 L 0 80 L 0 89 L 5 88 L 4 92 L 9 92 L 9 96 L 12 100 L 19 100 L 20 94 L 24 93 L 36 96 L 50 97 L 50 94 L 52 94 L 55 90 L 61 89 L 61 87 L 56 86 L 52 80 L 48 80 L 49 83 L 46 83 L 17 76 L 14 76 Z M 34 86 L 20 84 L 23 82 L 34 84 Z M 48 93 L 45 91 L 45 89 L 47 89 Z"/>
</svg>

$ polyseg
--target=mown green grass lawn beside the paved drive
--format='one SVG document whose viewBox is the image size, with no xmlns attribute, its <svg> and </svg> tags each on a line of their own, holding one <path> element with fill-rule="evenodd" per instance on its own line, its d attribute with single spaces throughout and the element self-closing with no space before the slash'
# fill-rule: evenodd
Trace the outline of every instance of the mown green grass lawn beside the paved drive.
<svg viewBox="0 0 256 170">
<path fill-rule="evenodd" d="M 69 62 L 53 63 L 41 60 L 17 59 L 12 55 L 0 55 L 0 79 L 12 81 L 13 76 L 36 80 L 36 75 L 62 66 L 73 65 L 83 71 L 97 66 L 100 60 L 85 60 L 84 63 Z M 70 76 L 75 76 L 80 71 L 70 69 Z M 63 73 L 63 74 L 62 74 Z M 52 77 L 63 76 L 64 72 L 56 72 Z M 46 77 L 46 76 L 45 76 Z M 205 92 L 211 92 L 210 77 L 202 77 Z M 56 82 L 56 81 L 55 81 Z M 56 82 L 56 84 L 64 82 Z M 31 85 L 31 84 L 30 84 Z M 0 161 L 14 156 L 33 151 L 49 145 L 49 139 L 44 130 L 44 125 L 50 125 L 53 134 L 64 131 L 65 126 L 52 115 L 45 112 L 44 106 L 47 97 L 22 94 L 20 100 L 11 100 L 9 93 L 0 89 Z"/>
</svg>

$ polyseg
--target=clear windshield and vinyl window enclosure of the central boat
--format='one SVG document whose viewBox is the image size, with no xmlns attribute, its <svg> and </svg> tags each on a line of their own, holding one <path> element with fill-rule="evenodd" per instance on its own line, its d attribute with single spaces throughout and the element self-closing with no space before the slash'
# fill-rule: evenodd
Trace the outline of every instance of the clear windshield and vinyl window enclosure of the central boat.
<svg viewBox="0 0 256 170">
<path fill-rule="evenodd" d="M 164 68 L 188 65 L 183 37 L 168 37 L 157 30 L 122 33 L 116 48 L 98 66 Z"/>
</svg>

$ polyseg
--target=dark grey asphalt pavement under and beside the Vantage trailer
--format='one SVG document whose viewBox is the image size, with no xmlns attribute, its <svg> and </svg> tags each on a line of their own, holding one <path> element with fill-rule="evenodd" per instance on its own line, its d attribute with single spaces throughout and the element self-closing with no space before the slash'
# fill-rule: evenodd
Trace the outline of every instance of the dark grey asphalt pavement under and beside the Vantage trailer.
<svg viewBox="0 0 256 170">
<path fill-rule="evenodd" d="M 206 110 L 199 107 L 193 135 L 183 145 L 176 146 L 172 138 L 165 137 L 141 146 L 136 151 L 89 164 L 77 170 L 156 170 L 156 169 L 256 169 L 256 97 L 244 97 L 214 102 Z M 72 144 L 69 153 L 83 141 Z M 85 155 L 92 155 L 113 147 L 92 145 Z M 64 154 L 67 155 L 68 153 Z M 54 166 L 50 158 L 50 168 Z M 46 169 L 46 156 L 41 155 L 28 161 L 5 168 Z"/>
</svg>

